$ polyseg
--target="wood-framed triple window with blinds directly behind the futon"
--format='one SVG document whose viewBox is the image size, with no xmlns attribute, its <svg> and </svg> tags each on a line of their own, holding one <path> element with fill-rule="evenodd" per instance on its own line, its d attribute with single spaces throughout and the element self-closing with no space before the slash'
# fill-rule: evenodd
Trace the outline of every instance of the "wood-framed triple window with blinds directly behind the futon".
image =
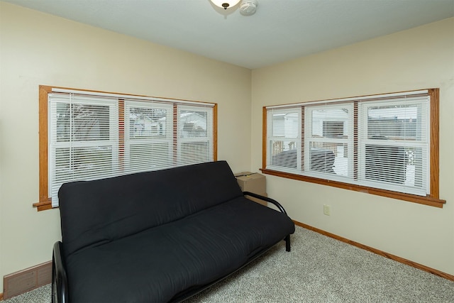
<svg viewBox="0 0 454 303">
<path fill-rule="evenodd" d="M 216 160 L 216 104 L 40 86 L 40 202 L 61 184 Z"/>
</svg>

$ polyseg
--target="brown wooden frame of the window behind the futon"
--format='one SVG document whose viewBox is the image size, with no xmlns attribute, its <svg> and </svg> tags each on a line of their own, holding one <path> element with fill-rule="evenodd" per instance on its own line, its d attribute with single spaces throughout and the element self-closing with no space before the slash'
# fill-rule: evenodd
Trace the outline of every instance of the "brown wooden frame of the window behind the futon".
<svg viewBox="0 0 454 303">
<path fill-rule="evenodd" d="M 65 87 L 52 87 L 47 85 L 40 85 L 39 86 L 39 106 L 38 106 L 38 114 L 39 114 L 39 201 L 33 203 L 33 207 L 36 207 L 38 211 L 44 211 L 46 209 L 52 209 L 52 199 L 49 197 L 48 194 L 48 94 L 52 93 L 52 89 L 68 89 Z M 81 92 L 96 92 L 101 94 L 112 94 L 108 92 L 99 92 L 99 91 L 91 91 L 87 89 L 77 89 L 77 91 Z M 147 97 L 148 96 L 140 96 L 140 95 L 129 95 L 134 97 Z M 170 99 L 172 100 L 172 99 Z M 177 100 L 176 100 L 177 101 Z M 174 105 L 175 107 L 176 105 Z M 120 148 L 118 150 L 119 155 L 123 155 L 124 158 L 124 100 L 118 98 L 118 141 L 120 143 Z M 174 111 L 175 113 L 175 111 Z M 174 120 L 177 119 L 177 114 L 174 114 Z M 217 138 L 218 138 L 218 114 L 217 114 L 217 104 L 213 106 L 213 158 L 214 161 L 217 160 Z M 173 131 L 174 136 L 176 136 L 177 130 L 177 123 L 174 121 L 173 123 Z M 174 141 L 175 142 L 175 141 Z M 121 144 L 123 143 L 123 145 Z M 177 148 L 175 143 L 174 148 Z M 124 160 L 124 159 L 123 159 Z M 123 163 L 123 160 L 119 160 L 119 163 Z"/>
</svg>

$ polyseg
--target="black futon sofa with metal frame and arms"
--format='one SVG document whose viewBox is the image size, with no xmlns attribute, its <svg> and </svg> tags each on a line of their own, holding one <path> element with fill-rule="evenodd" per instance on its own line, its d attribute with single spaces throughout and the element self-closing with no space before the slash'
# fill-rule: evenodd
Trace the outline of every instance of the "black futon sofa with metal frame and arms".
<svg viewBox="0 0 454 303">
<path fill-rule="evenodd" d="M 294 223 L 247 199 L 225 161 L 63 184 L 52 302 L 179 302 L 250 263 Z"/>
</svg>

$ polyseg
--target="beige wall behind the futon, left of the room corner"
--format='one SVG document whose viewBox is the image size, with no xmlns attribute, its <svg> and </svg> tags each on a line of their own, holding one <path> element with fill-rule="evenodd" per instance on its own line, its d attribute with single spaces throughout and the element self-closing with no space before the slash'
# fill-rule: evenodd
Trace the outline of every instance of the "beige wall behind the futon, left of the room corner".
<svg viewBox="0 0 454 303">
<path fill-rule="evenodd" d="M 60 239 L 58 210 L 32 207 L 40 84 L 215 102 L 218 159 L 250 169 L 250 70 L 4 2 L 0 43 L 0 286 Z"/>
</svg>

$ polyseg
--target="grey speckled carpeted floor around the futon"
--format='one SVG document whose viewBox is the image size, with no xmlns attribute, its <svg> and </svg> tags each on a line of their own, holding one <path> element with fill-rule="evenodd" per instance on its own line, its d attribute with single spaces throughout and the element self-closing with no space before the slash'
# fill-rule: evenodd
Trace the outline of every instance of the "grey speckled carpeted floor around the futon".
<svg viewBox="0 0 454 303">
<path fill-rule="evenodd" d="M 4 303 L 50 302 L 50 285 Z M 454 282 L 297 226 L 247 268 L 188 299 L 194 302 L 452 303 Z"/>
</svg>

